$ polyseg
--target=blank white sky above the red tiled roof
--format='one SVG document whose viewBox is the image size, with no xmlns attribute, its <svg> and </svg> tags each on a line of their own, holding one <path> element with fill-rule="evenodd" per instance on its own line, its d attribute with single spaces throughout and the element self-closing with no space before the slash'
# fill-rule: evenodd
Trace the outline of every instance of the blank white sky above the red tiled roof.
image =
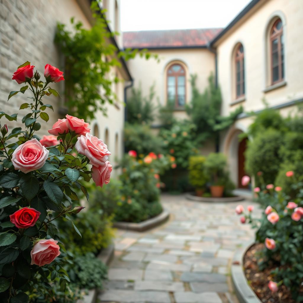
<svg viewBox="0 0 303 303">
<path fill-rule="evenodd" d="M 121 30 L 225 27 L 251 0 L 121 0 Z"/>
</svg>

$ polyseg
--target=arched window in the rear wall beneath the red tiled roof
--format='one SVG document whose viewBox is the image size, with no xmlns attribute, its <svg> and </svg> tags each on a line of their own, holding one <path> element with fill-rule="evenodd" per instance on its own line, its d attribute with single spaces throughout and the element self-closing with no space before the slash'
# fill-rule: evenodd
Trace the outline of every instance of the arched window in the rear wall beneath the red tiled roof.
<svg viewBox="0 0 303 303">
<path fill-rule="evenodd" d="M 167 70 L 167 100 L 175 102 L 176 107 L 183 107 L 185 98 L 185 69 L 180 64 L 173 64 Z"/>
</svg>

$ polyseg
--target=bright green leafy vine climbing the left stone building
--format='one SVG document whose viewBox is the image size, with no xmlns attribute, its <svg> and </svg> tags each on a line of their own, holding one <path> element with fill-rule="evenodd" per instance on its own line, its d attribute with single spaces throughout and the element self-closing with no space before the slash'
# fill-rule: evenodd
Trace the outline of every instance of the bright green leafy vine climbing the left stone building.
<svg viewBox="0 0 303 303">
<path fill-rule="evenodd" d="M 119 58 L 129 60 L 136 55 L 151 57 L 146 49 L 120 51 L 111 39 L 117 35 L 109 32 L 104 18 L 105 10 L 99 8 L 99 2 L 91 5 L 94 25 L 83 28 L 82 22 L 71 19 L 73 32 L 66 25 L 57 24 L 55 42 L 65 58 L 65 106 L 78 118 L 94 118 L 101 110 L 106 115 L 107 103 L 113 104 L 117 96 L 112 87 L 121 81 L 116 76 L 109 76 L 113 68 L 121 67 Z M 152 55 L 158 59 L 157 55 Z"/>
</svg>

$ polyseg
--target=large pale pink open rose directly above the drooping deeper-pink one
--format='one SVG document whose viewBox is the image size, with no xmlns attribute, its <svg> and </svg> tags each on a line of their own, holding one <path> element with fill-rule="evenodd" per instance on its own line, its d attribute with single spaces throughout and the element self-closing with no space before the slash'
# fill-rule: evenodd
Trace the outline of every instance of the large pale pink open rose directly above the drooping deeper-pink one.
<svg viewBox="0 0 303 303">
<path fill-rule="evenodd" d="M 94 166 L 103 165 L 111 154 L 101 139 L 88 133 L 78 137 L 75 148 L 79 154 L 86 156 L 90 161 L 89 163 Z"/>
</svg>

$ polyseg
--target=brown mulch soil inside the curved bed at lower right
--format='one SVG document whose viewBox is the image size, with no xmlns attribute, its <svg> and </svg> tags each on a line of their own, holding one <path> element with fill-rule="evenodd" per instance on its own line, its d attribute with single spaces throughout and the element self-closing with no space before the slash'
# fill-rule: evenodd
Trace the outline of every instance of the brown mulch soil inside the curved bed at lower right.
<svg viewBox="0 0 303 303">
<path fill-rule="evenodd" d="M 281 285 L 276 293 L 271 293 L 268 288 L 268 282 L 274 281 L 270 273 L 275 267 L 266 268 L 264 271 L 259 270 L 257 262 L 260 261 L 260 257 L 258 255 L 263 249 L 264 244 L 255 244 L 244 256 L 244 271 L 249 285 L 263 303 L 295 303 L 291 299 L 290 291 L 284 285 Z"/>
</svg>

